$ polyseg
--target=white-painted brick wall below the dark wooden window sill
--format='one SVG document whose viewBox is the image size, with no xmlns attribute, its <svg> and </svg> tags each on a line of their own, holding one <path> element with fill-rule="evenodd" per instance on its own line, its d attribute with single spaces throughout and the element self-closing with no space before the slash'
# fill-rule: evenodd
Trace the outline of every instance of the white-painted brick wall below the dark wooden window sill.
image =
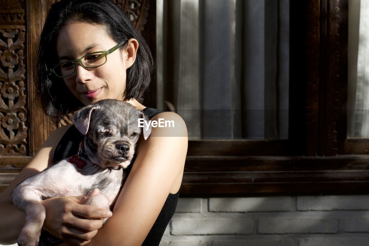
<svg viewBox="0 0 369 246">
<path fill-rule="evenodd" d="M 369 246 L 369 195 L 180 198 L 165 245 Z"/>
</svg>

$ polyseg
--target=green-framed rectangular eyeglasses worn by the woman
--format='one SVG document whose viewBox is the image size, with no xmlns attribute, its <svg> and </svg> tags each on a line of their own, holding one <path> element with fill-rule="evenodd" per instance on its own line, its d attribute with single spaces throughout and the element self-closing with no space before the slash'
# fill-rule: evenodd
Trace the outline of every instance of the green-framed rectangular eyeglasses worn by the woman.
<svg viewBox="0 0 369 246">
<path fill-rule="evenodd" d="M 63 77 L 72 75 L 76 71 L 77 62 L 81 62 L 82 66 L 86 68 L 99 67 L 106 63 L 107 55 L 109 55 L 110 53 L 113 53 L 113 51 L 118 49 L 123 44 L 125 44 L 125 42 L 121 42 L 120 44 L 114 46 L 111 49 L 108 49 L 107 51 L 92 52 L 92 53 L 82 56 L 81 58 L 77 60 L 69 60 L 66 62 L 61 62 L 55 65 L 54 67 L 52 67 L 51 69 L 49 69 L 49 71 L 51 73 L 54 73 L 56 76 L 63 78 Z"/>
</svg>

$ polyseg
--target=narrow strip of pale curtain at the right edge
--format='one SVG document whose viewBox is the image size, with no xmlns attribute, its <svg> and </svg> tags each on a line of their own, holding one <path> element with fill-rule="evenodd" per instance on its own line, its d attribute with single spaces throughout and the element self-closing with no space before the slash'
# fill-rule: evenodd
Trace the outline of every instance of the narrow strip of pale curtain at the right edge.
<svg viewBox="0 0 369 246">
<path fill-rule="evenodd" d="M 348 122 L 349 137 L 369 136 L 369 1 L 349 1 Z"/>
</svg>

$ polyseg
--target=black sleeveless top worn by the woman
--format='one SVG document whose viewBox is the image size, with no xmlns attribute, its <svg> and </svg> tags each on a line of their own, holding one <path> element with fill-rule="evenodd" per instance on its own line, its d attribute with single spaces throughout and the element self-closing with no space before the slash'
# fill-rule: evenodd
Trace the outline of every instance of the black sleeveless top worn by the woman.
<svg viewBox="0 0 369 246">
<path fill-rule="evenodd" d="M 160 111 L 156 108 L 144 108 L 142 110 L 146 117 L 151 119 L 154 117 L 154 115 L 159 114 L 164 111 Z M 54 163 L 69 157 L 73 156 L 77 153 L 79 143 L 82 141 L 83 135 L 77 130 L 77 128 L 72 125 L 66 133 L 61 138 L 60 142 L 56 146 L 55 152 L 54 152 Z M 131 165 L 128 166 L 127 169 L 125 169 L 126 177 L 128 177 L 132 164 L 134 163 L 136 159 L 136 153 L 134 157 L 132 158 Z M 165 229 L 167 225 L 169 224 L 170 219 L 172 218 L 176 207 L 177 207 L 177 201 L 179 197 L 180 190 L 182 188 L 182 184 L 176 194 L 168 194 L 168 197 L 166 198 L 166 201 L 163 205 L 163 208 L 161 209 L 158 218 L 156 219 L 154 225 L 152 226 L 149 234 L 146 236 L 146 239 L 142 245 L 159 245 L 161 238 L 163 237 L 163 234 L 165 232 Z"/>
</svg>

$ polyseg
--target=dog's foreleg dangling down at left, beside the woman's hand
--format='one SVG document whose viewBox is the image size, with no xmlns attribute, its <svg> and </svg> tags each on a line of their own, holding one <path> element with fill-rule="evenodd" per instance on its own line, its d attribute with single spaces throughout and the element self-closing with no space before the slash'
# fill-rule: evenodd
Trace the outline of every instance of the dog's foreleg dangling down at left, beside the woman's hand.
<svg viewBox="0 0 369 246">
<path fill-rule="evenodd" d="M 41 204 L 41 198 L 34 190 L 23 190 L 22 199 L 14 199 L 15 207 L 27 214 L 26 223 L 18 237 L 20 246 L 37 246 L 41 234 L 42 225 L 46 217 L 45 207 Z"/>
</svg>

